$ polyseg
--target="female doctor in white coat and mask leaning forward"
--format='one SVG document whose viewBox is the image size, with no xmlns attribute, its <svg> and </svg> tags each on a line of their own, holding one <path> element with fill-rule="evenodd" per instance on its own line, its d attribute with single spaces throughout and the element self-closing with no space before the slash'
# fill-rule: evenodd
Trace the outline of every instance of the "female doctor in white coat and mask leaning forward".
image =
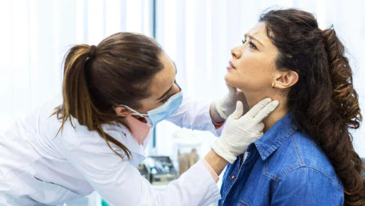
<svg viewBox="0 0 365 206">
<path fill-rule="evenodd" d="M 72 47 L 62 96 L 0 137 L 0 203 L 62 204 L 95 190 L 112 205 L 207 205 L 220 199 L 218 175 L 261 137 L 261 121 L 278 102 L 264 99 L 242 116 L 234 88 L 202 105 L 182 98 L 175 74 L 158 43 L 142 35 L 116 33 L 97 46 Z M 136 166 L 153 126 L 164 119 L 214 134 L 222 122 L 225 128 L 205 158 L 160 193 Z"/>
</svg>

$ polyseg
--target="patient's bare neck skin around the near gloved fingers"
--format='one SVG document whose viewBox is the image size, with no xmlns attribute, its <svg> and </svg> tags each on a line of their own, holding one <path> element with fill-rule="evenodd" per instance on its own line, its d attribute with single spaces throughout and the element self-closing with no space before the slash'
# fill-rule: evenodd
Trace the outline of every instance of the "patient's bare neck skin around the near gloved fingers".
<svg viewBox="0 0 365 206">
<path fill-rule="evenodd" d="M 258 99 L 257 97 L 250 98 L 250 96 L 246 95 L 246 98 L 248 106 L 252 108 L 254 105 L 256 105 L 260 100 L 264 99 L 265 97 L 263 97 L 262 99 Z M 289 109 L 286 106 L 286 98 L 282 97 L 271 97 L 271 98 L 273 100 L 278 100 L 279 106 L 262 121 L 265 124 L 264 133 L 289 112 Z"/>
</svg>

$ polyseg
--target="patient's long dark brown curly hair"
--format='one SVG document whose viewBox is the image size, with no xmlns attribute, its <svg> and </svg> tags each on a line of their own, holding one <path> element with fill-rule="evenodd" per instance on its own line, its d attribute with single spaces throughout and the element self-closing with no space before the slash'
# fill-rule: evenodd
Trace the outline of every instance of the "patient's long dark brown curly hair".
<svg viewBox="0 0 365 206">
<path fill-rule="evenodd" d="M 261 15 L 267 36 L 279 51 L 276 65 L 295 71 L 299 81 L 287 91 L 288 107 L 331 161 L 345 190 L 346 205 L 365 204 L 362 161 L 349 129 L 362 121 L 345 48 L 332 27 L 320 30 L 315 17 L 296 9 Z"/>
</svg>

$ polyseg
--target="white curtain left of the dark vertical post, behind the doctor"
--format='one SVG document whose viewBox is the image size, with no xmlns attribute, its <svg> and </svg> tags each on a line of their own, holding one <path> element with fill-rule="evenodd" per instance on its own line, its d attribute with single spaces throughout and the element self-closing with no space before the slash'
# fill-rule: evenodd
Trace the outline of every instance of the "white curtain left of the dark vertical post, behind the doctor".
<svg viewBox="0 0 365 206">
<path fill-rule="evenodd" d="M 148 0 L 0 2 L 0 132 L 61 91 L 62 60 L 75 44 L 120 31 L 152 36 Z"/>
</svg>

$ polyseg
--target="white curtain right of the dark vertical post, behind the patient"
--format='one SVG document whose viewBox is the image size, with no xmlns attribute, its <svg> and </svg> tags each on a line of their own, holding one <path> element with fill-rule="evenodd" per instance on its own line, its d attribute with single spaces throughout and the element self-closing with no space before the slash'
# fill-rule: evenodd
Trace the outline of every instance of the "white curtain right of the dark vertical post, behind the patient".
<svg viewBox="0 0 365 206">
<path fill-rule="evenodd" d="M 226 92 L 223 76 L 231 58 L 230 49 L 241 44 L 246 33 L 268 8 L 295 7 L 315 13 L 319 27 L 334 24 L 350 52 L 355 89 L 360 108 L 365 104 L 365 3 L 361 0 L 165 0 L 157 1 L 157 40 L 175 60 L 177 80 L 187 96 L 207 102 Z M 158 153 L 177 155 L 171 136 L 180 129 L 168 122 L 157 126 Z M 205 155 L 214 137 L 206 132 L 184 132 L 200 138 L 200 155 Z M 365 156 L 365 128 L 353 132 L 354 146 Z M 191 141 L 191 140 L 189 140 Z"/>
</svg>

